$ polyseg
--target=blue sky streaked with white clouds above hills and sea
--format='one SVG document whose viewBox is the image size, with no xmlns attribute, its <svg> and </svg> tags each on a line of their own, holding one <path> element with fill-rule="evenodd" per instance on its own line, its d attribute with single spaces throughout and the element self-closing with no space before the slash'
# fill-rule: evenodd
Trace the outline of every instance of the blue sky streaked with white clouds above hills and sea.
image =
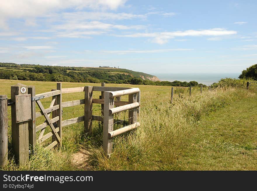
<svg viewBox="0 0 257 191">
<path fill-rule="evenodd" d="M 257 63 L 257 1 L 0 4 L 0 62 L 146 73 L 231 73 Z"/>
</svg>

